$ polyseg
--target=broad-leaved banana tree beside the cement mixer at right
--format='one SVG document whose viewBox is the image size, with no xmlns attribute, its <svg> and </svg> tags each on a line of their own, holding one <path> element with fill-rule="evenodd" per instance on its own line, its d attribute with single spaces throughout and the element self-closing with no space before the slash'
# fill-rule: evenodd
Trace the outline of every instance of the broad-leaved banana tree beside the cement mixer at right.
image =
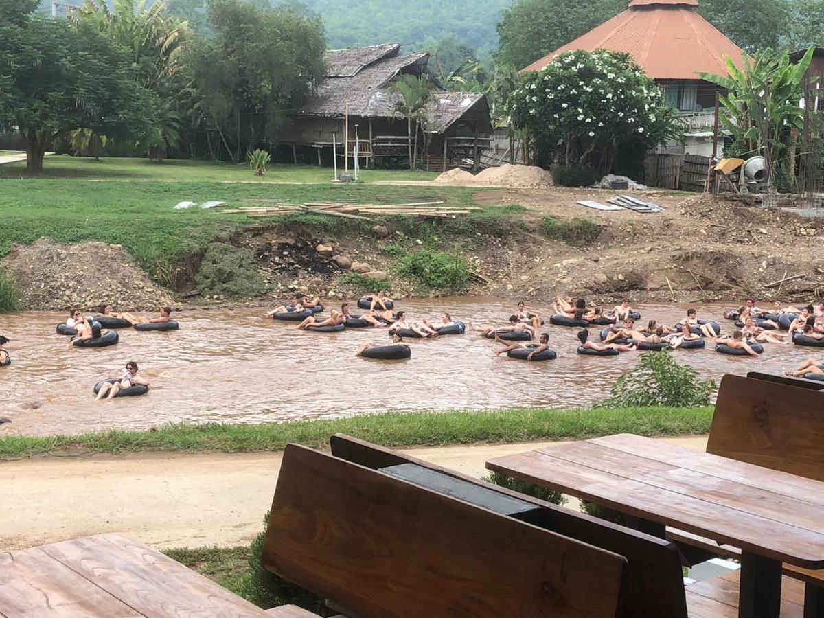
<svg viewBox="0 0 824 618">
<path fill-rule="evenodd" d="M 727 76 L 700 73 L 708 82 L 728 92 L 719 97 L 720 121 L 735 139 L 742 154 L 761 154 L 767 163 L 768 183 L 773 184 L 773 163 L 792 151 L 793 129 L 803 129 L 804 74 L 812 62 L 813 48 L 798 63 L 790 63 L 787 51 L 761 49 L 753 59 L 744 57 L 743 69 L 727 59 Z"/>
</svg>

